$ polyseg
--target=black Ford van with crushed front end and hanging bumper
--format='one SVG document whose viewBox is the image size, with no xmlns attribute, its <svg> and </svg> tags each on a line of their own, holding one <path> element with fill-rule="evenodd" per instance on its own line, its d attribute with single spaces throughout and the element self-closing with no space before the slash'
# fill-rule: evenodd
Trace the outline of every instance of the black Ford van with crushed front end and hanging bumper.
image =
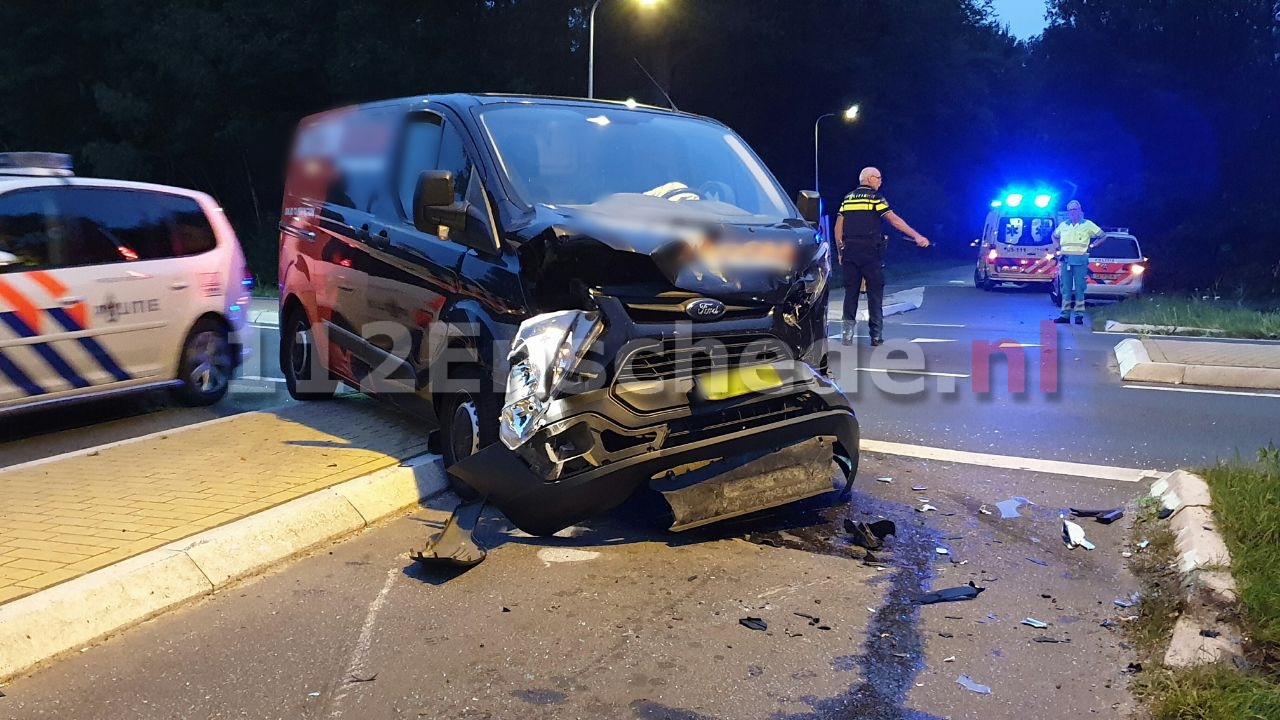
<svg viewBox="0 0 1280 720">
<path fill-rule="evenodd" d="M 817 196 L 797 204 L 731 129 L 657 108 L 439 95 L 306 118 L 287 386 L 415 413 L 460 489 L 534 534 L 645 484 L 672 529 L 847 487 L 831 249 Z"/>
</svg>

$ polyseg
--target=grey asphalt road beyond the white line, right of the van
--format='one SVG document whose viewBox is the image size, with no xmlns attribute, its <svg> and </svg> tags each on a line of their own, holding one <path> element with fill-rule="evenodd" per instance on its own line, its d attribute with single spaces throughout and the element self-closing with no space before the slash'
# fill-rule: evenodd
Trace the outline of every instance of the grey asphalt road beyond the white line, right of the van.
<svg viewBox="0 0 1280 720">
<path fill-rule="evenodd" d="M 1057 315 L 1047 293 L 983 292 L 973 287 L 972 275 L 965 265 L 915 279 L 911 286 L 925 287 L 923 306 L 886 319 L 887 342 L 878 352 L 865 337 L 858 338 L 859 347 L 844 350 L 838 382 L 854 397 L 863 437 L 1156 469 L 1203 466 L 1236 452 L 1252 459 L 1267 442 L 1280 443 L 1280 398 L 1124 387 L 1139 383 L 1120 380 L 1112 348 L 1132 336 L 1091 332 L 1089 325 L 1050 324 L 1046 331 L 1041 323 Z M 832 332 L 838 332 L 835 324 Z M 860 333 L 867 333 L 865 325 Z M 888 366 L 895 346 L 913 351 L 901 342 L 913 340 L 923 341 L 910 343 L 923 355 L 914 369 L 961 377 L 868 370 Z M 1006 341 L 1027 346 L 1021 361 L 998 354 L 993 361 L 974 360 L 974 342 Z M 1046 350 L 1055 351 L 1047 357 L 1056 368 L 1056 388 L 1048 382 L 1052 373 L 1041 369 Z M 983 366 L 991 368 L 989 392 L 975 392 Z M 1012 392 L 1010 368 L 1024 369 L 1025 392 Z M 884 384 L 922 378 L 919 392 L 899 393 Z M 940 391 L 947 383 L 954 392 Z"/>
</svg>

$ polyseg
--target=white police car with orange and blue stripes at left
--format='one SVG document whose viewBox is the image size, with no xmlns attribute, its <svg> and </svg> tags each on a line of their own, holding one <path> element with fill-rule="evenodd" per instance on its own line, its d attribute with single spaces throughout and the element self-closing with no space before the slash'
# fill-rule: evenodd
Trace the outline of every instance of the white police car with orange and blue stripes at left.
<svg viewBox="0 0 1280 720">
<path fill-rule="evenodd" d="M 0 415 L 156 388 L 216 402 L 251 284 L 212 197 L 0 154 Z"/>
</svg>

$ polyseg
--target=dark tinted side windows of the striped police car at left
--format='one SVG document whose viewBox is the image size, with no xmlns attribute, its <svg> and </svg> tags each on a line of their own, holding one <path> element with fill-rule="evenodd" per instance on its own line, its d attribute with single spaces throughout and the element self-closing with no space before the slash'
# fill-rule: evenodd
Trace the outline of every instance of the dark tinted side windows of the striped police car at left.
<svg viewBox="0 0 1280 720">
<path fill-rule="evenodd" d="M 5 272 L 133 263 L 216 246 L 200 204 L 160 192 L 99 187 L 31 188 L 0 195 Z"/>
</svg>

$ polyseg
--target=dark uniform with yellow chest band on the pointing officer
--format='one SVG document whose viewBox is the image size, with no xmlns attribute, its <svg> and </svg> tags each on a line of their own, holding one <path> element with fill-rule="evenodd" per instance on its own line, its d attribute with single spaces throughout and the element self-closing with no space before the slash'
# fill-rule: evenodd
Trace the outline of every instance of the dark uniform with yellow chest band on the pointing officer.
<svg viewBox="0 0 1280 720">
<path fill-rule="evenodd" d="M 884 329 L 884 234 L 881 222 L 890 206 L 884 196 L 865 184 L 845 196 L 840 214 L 845 218 L 845 322 L 858 316 L 858 292 L 867 281 L 867 324 L 872 337 Z"/>
</svg>

